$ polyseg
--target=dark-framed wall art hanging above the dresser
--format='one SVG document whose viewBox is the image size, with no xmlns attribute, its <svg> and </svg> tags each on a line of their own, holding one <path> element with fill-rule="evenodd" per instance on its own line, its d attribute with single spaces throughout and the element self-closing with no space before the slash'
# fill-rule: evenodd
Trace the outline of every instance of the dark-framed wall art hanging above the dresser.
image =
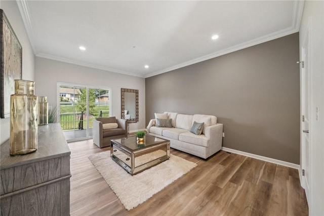
<svg viewBox="0 0 324 216">
<path fill-rule="evenodd" d="M 0 117 L 10 117 L 10 95 L 22 78 L 22 47 L 4 11 L 0 9 Z"/>
</svg>

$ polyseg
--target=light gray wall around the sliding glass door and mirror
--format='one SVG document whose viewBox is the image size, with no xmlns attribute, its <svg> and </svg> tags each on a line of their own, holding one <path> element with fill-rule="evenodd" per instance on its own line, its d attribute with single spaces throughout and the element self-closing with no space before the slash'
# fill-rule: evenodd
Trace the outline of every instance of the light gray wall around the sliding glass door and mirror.
<svg viewBox="0 0 324 216">
<path fill-rule="evenodd" d="M 49 105 L 55 105 L 57 99 L 57 83 L 73 83 L 110 88 L 111 116 L 121 117 L 120 88 L 139 90 L 139 121 L 130 124 L 130 131 L 145 128 L 145 80 L 124 74 L 117 74 L 46 58 L 35 58 L 35 94 L 48 96 Z"/>
</svg>

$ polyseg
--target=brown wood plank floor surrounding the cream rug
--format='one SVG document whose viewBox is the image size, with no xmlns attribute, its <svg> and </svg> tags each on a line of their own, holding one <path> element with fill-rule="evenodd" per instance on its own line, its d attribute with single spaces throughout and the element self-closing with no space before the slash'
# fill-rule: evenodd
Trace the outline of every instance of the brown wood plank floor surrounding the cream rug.
<svg viewBox="0 0 324 216">
<path fill-rule="evenodd" d="M 198 166 L 127 211 L 88 159 L 110 147 L 92 139 L 68 145 L 71 215 L 308 215 L 297 169 L 224 151 L 205 161 L 174 149 Z"/>
</svg>

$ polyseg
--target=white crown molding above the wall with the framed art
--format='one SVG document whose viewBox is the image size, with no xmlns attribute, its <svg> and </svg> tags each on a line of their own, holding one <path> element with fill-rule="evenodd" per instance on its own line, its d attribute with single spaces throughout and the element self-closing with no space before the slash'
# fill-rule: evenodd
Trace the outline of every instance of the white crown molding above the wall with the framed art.
<svg viewBox="0 0 324 216">
<path fill-rule="evenodd" d="M 16 0 L 18 8 L 19 8 L 19 12 L 22 18 L 22 21 L 24 22 L 25 25 L 25 29 L 27 31 L 27 35 L 28 35 L 28 39 L 31 45 L 31 48 L 34 52 L 34 54 L 37 53 L 36 50 L 36 45 L 34 43 L 34 31 L 32 28 L 32 24 L 30 21 L 30 16 L 29 16 L 29 9 L 28 9 L 28 5 L 27 5 L 27 1 L 26 0 Z"/>
</svg>

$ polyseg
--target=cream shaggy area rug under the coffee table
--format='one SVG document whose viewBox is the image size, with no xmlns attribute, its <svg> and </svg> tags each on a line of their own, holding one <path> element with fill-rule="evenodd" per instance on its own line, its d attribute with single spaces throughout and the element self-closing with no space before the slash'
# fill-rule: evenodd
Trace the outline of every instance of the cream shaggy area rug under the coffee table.
<svg viewBox="0 0 324 216">
<path fill-rule="evenodd" d="M 145 202 L 197 166 L 171 154 L 169 160 L 132 176 L 110 158 L 110 151 L 91 155 L 89 159 L 127 210 Z"/>
</svg>

